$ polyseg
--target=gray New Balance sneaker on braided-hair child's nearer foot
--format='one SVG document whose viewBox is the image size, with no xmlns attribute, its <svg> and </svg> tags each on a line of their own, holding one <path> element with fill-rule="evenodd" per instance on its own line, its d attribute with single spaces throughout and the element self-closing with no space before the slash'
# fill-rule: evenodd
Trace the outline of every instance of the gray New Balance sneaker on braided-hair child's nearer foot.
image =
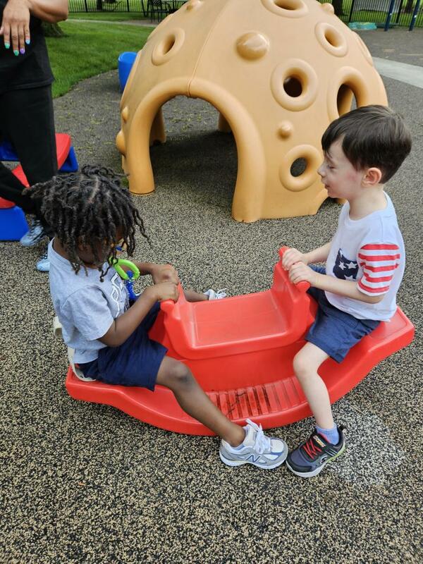
<svg viewBox="0 0 423 564">
<path fill-rule="evenodd" d="M 264 470 L 280 466 L 288 455 L 285 441 L 269 437 L 263 433 L 262 426 L 247 419 L 245 439 L 242 445 L 234 448 L 226 441 L 221 441 L 220 458 L 228 466 L 253 464 Z"/>
</svg>

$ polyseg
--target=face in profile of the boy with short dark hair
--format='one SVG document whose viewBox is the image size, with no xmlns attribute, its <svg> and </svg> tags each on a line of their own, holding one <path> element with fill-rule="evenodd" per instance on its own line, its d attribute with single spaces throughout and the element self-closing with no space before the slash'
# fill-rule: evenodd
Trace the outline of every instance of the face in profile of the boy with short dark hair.
<svg viewBox="0 0 423 564">
<path fill-rule="evenodd" d="M 329 197 L 345 198 L 345 200 L 353 200 L 358 195 L 366 174 L 365 171 L 357 171 L 345 157 L 342 139 L 332 143 L 329 151 L 324 154 L 324 161 L 317 172 Z"/>
</svg>

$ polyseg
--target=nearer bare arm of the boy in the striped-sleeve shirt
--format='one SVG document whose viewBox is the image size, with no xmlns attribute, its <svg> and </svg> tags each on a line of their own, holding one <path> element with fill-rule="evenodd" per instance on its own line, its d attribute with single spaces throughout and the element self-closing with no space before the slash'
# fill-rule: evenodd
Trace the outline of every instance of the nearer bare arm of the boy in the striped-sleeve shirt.
<svg viewBox="0 0 423 564">
<path fill-rule="evenodd" d="M 300 281 L 306 281 L 309 282 L 311 286 L 314 286 L 314 288 L 343 295 L 345 298 L 360 300 L 360 302 L 368 304 L 376 304 L 384 298 L 383 295 L 367 295 L 360 292 L 357 286 L 357 281 L 355 280 L 341 280 L 340 278 L 335 278 L 334 276 L 320 274 L 319 272 L 315 272 L 310 269 L 309 266 L 306 266 L 302 262 L 297 262 L 291 266 L 289 278 L 294 284 Z"/>
</svg>

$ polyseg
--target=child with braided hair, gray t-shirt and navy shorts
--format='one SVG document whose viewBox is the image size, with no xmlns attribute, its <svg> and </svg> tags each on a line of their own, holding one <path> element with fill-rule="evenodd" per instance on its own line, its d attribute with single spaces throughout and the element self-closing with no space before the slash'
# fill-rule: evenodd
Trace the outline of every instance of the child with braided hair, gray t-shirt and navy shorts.
<svg viewBox="0 0 423 564">
<path fill-rule="evenodd" d="M 108 168 L 85 166 L 80 174 L 32 186 L 30 195 L 42 197 L 42 213 L 55 233 L 49 245 L 51 300 L 83 376 L 151 391 L 156 384 L 166 386 L 185 412 L 221 437 L 220 457 L 227 465 L 281 465 L 288 454 L 284 441 L 265 436 L 248 419 L 245 427 L 227 419 L 190 369 L 149 338 L 159 302 L 178 300 L 173 266 L 135 263 L 153 283 L 129 305 L 127 290 L 111 264 L 118 247 L 133 255 L 137 229 L 148 237 L 118 176 Z M 192 291 L 185 295 L 190 301 L 213 297 Z"/>
</svg>

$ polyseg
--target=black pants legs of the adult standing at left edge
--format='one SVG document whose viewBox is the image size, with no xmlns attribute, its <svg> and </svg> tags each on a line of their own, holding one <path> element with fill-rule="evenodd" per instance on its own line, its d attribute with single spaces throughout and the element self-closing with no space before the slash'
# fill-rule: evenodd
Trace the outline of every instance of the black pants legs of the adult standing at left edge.
<svg viewBox="0 0 423 564">
<path fill-rule="evenodd" d="M 1 130 L 13 143 L 30 185 L 46 182 L 57 173 L 51 86 L 14 90 L 1 95 Z M 27 213 L 34 213 L 46 225 L 40 199 L 23 192 L 19 180 L 5 166 L 0 170 L 0 196 Z"/>
</svg>

